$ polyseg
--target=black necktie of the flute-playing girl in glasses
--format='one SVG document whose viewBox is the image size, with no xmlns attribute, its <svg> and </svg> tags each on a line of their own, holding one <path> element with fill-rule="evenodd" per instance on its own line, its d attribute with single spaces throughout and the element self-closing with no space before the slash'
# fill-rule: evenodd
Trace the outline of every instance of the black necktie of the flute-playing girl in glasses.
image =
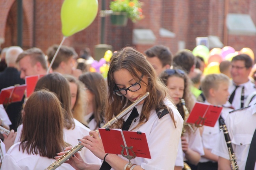
<svg viewBox="0 0 256 170">
<path fill-rule="evenodd" d="M 122 130 L 128 130 L 132 124 L 132 121 L 134 120 L 135 117 L 139 115 L 138 111 L 136 108 L 132 110 L 132 113 L 128 117 L 128 119 L 124 122 L 122 126 Z M 111 166 L 106 162 L 103 161 L 102 165 L 100 166 L 100 170 L 110 170 Z"/>
</svg>

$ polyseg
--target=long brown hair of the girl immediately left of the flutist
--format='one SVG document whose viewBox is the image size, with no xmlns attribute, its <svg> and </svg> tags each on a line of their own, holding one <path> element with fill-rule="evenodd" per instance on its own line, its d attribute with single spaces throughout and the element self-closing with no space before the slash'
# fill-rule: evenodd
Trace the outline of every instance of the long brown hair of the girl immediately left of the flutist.
<svg viewBox="0 0 256 170">
<path fill-rule="evenodd" d="M 104 106 L 107 95 L 107 84 L 106 80 L 102 77 L 100 73 L 87 72 L 79 76 L 79 80 L 85 84 L 94 94 L 93 101 L 93 114 L 98 127 L 104 117 Z"/>
</svg>

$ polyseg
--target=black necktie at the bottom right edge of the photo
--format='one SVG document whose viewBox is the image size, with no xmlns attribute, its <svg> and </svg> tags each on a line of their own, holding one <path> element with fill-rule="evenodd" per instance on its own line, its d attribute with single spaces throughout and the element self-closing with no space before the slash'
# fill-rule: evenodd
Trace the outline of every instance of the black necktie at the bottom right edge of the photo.
<svg viewBox="0 0 256 170">
<path fill-rule="evenodd" d="M 245 170 L 254 170 L 256 161 L 256 130 L 254 131 L 252 142 L 250 143 L 250 149 L 245 164 Z"/>
</svg>

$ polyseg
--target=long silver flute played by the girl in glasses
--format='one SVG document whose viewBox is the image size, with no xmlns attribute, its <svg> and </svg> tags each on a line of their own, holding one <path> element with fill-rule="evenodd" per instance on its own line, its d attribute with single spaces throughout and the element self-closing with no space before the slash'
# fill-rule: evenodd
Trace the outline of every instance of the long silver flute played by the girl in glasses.
<svg viewBox="0 0 256 170">
<path fill-rule="evenodd" d="M 149 92 L 147 92 L 143 96 L 139 97 L 139 99 L 137 99 L 130 106 L 125 108 L 116 117 L 114 117 L 113 119 L 108 121 L 104 126 L 102 126 L 102 128 L 108 128 L 109 126 L 111 126 L 112 124 L 117 122 L 120 118 L 122 118 L 124 115 L 126 115 L 128 112 L 130 112 L 130 110 L 132 110 L 135 106 L 137 106 L 137 104 L 139 104 L 139 102 L 143 101 L 146 97 L 148 97 L 148 95 L 149 95 Z M 96 130 L 96 132 L 98 132 L 98 130 Z M 76 146 L 74 146 L 69 151 L 67 151 L 66 154 L 62 155 L 59 159 L 54 161 L 50 166 L 45 168 L 45 170 L 55 170 L 56 168 L 61 166 L 61 164 L 63 164 L 65 161 L 67 161 L 67 159 L 69 159 L 71 157 L 71 155 L 75 154 L 76 152 L 78 152 L 82 148 L 83 148 L 83 145 L 78 143 Z"/>
</svg>

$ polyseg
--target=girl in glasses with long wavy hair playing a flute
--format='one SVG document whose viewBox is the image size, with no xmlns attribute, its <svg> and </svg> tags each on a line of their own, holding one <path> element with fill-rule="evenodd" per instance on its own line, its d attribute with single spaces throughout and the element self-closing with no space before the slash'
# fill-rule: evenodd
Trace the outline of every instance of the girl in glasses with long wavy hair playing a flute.
<svg viewBox="0 0 256 170">
<path fill-rule="evenodd" d="M 106 122 L 146 92 L 150 93 L 133 111 L 128 112 L 110 128 L 144 132 L 151 159 L 135 157 L 131 160 L 132 166 L 128 166 L 127 159 L 122 155 L 105 153 L 102 141 L 95 131 L 90 132 L 93 137 L 87 135 L 79 139 L 79 142 L 104 160 L 101 167 L 104 170 L 107 169 L 106 166 L 112 170 L 173 170 L 183 120 L 154 68 L 141 53 L 127 47 L 111 58 L 107 80 Z M 78 153 L 68 163 L 80 170 L 99 169 L 99 166 L 84 163 Z"/>
</svg>

